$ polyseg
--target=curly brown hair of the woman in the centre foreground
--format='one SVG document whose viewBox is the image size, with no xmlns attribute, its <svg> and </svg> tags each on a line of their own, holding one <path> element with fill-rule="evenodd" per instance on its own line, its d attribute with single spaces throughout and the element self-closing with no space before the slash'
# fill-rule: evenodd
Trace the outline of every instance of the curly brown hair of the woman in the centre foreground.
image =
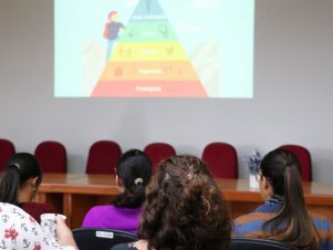
<svg viewBox="0 0 333 250">
<path fill-rule="evenodd" d="M 194 156 L 162 162 L 138 229 L 148 249 L 225 250 L 230 236 L 228 206 L 206 164 Z"/>
</svg>

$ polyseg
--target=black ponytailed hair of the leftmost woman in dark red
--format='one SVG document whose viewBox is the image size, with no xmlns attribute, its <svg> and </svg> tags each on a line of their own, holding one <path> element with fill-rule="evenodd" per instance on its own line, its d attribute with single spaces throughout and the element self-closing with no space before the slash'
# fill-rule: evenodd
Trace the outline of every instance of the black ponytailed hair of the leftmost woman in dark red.
<svg viewBox="0 0 333 250">
<path fill-rule="evenodd" d="M 0 180 L 0 201 L 18 204 L 18 195 L 22 185 L 35 178 L 35 187 L 42 181 L 42 171 L 38 160 L 29 153 L 17 153 L 7 162 Z"/>
</svg>

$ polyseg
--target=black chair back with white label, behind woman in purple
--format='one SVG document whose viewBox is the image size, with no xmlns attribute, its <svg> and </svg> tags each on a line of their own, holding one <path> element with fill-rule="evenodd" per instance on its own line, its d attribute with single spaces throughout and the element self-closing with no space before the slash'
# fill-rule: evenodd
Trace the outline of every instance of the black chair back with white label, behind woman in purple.
<svg viewBox="0 0 333 250">
<path fill-rule="evenodd" d="M 73 237 L 80 250 L 110 250 L 115 244 L 138 240 L 131 232 L 96 228 L 73 229 Z"/>
</svg>

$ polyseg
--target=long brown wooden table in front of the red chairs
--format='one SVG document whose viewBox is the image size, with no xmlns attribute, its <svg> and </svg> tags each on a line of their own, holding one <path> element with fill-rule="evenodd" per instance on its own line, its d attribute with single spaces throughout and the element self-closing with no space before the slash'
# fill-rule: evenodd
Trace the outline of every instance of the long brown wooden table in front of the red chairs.
<svg viewBox="0 0 333 250">
<path fill-rule="evenodd" d="M 216 180 L 229 202 L 232 218 L 262 204 L 259 190 L 251 190 L 248 180 Z M 333 221 L 333 184 L 303 183 L 303 189 L 309 209 Z M 67 216 L 69 227 L 79 228 L 91 207 L 108 204 L 118 192 L 112 175 L 44 174 L 37 201 L 53 205 Z"/>
</svg>

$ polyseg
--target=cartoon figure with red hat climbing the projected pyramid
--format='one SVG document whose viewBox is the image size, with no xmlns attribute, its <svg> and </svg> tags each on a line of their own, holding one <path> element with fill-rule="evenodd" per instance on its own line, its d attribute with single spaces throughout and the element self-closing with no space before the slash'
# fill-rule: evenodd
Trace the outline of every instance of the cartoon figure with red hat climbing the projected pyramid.
<svg viewBox="0 0 333 250">
<path fill-rule="evenodd" d="M 118 13 L 115 10 L 111 11 L 103 32 L 103 37 L 107 39 L 106 61 L 110 59 L 114 43 L 124 28 L 124 24 L 118 22 Z"/>
</svg>

